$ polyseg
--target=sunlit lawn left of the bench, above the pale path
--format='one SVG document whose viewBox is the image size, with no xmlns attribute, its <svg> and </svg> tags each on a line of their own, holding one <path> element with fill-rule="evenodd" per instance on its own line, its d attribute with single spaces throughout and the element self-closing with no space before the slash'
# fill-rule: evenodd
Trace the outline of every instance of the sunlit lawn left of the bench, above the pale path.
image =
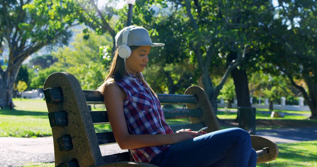
<svg viewBox="0 0 317 167">
<path fill-rule="evenodd" d="M 45 101 L 13 99 L 14 109 L 0 110 L 0 137 L 51 136 Z"/>
</svg>

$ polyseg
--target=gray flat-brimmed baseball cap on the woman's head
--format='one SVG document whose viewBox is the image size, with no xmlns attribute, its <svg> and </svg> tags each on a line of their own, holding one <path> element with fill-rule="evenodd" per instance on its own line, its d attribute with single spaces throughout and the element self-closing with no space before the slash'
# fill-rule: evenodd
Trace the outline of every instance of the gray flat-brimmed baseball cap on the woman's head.
<svg viewBox="0 0 317 167">
<path fill-rule="evenodd" d="M 127 46 L 164 46 L 162 43 L 152 43 L 149 32 L 138 26 L 129 26 L 123 28 L 116 36 L 116 47 L 119 47 L 122 44 L 123 32 L 131 28 L 127 38 Z"/>
</svg>

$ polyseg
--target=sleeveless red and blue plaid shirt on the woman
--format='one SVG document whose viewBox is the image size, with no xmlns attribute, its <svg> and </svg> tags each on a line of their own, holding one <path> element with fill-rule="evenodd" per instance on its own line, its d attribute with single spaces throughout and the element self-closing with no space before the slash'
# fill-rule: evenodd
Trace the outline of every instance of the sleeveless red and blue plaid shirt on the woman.
<svg viewBox="0 0 317 167">
<path fill-rule="evenodd" d="M 139 77 L 136 77 L 134 74 L 131 74 L 131 76 L 133 78 L 126 73 L 122 79 L 115 81 L 127 95 L 126 99 L 123 101 L 123 112 L 128 132 L 130 134 L 164 134 L 160 124 L 161 120 L 165 133 L 173 133 L 171 128 L 165 122 L 163 109 L 158 98 L 156 98 L 156 96 L 154 96 L 154 99 L 152 98 L 149 90 L 144 89 L 147 87 Z M 142 87 L 136 84 L 136 82 Z M 155 110 L 155 103 L 153 100 L 155 100 L 155 103 L 157 104 L 156 108 L 158 109 L 159 115 Z M 160 145 L 130 149 L 129 151 L 133 158 L 131 160 L 149 163 L 153 157 L 169 146 L 170 145 Z"/>
</svg>

